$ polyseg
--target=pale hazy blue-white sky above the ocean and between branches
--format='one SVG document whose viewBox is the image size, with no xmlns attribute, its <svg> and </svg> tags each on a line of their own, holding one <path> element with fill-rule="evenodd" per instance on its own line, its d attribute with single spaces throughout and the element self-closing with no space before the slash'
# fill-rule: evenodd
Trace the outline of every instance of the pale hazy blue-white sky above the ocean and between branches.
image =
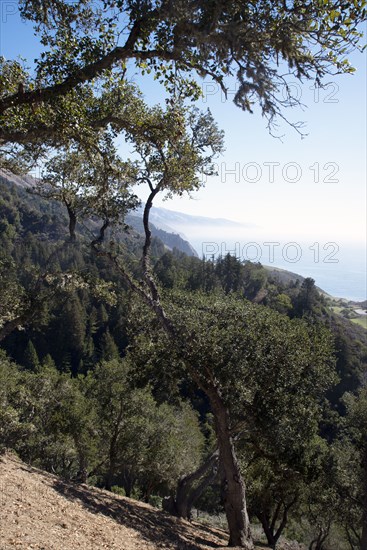
<svg viewBox="0 0 367 550">
<path fill-rule="evenodd" d="M 1 5 L 0 54 L 30 62 L 39 46 L 21 22 L 17 2 Z M 363 243 L 366 235 L 366 55 L 351 57 L 354 75 L 331 77 L 324 90 L 296 83 L 305 110 L 288 109 L 289 120 L 306 122 L 305 139 L 282 125 L 282 141 L 270 136 L 260 113 L 241 112 L 210 81 L 200 105 L 209 107 L 225 131 L 226 151 L 218 177 L 193 199 L 156 203 L 188 214 L 253 224 L 254 237 Z M 140 83 L 140 81 L 139 81 Z M 160 92 L 142 82 L 150 101 Z M 200 106 L 199 105 L 199 106 Z M 141 195 L 144 196 L 143 194 Z"/>
</svg>

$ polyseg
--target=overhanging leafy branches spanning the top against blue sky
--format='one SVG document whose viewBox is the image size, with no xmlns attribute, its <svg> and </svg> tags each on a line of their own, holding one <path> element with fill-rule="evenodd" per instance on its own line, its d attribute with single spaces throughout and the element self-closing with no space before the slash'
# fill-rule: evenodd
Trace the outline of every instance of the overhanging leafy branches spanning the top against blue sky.
<svg viewBox="0 0 367 550">
<path fill-rule="evenodd" d="M 153 71 L 172 93 L 200 94 L 197 77 L 213 79 L 241 109 L 258 105 L 270 126 L 297 103 L 289 79 L 321 86 L 329 74 L 351 72 L 347 56 L 360 48 L 366 3 L 279 0 L 21 0 L 43 51 L 31 74 L 18 60 L 0 66 L 0 143 L 35 153 L 65 135 L 105 127 L 120 85 L 133 67 Z M 101 90 L 114 101 L 101 104 Z M 9 151 L 8 151 L 9 152 Z"/>
</svg>

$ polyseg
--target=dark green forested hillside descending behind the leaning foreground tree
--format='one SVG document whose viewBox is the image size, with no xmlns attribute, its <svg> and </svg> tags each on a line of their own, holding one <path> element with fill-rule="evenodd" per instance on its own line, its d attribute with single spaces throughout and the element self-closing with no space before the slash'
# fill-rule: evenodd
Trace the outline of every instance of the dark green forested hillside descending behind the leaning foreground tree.
<svg viewBox="0 0 367 550">
<path fill-rule="evenodd" d="M 67 215 L 59 203 L 5 178 L 0 205 L 2 447 L 66 479 L 147 502 L 169 497 L 165 508 L 183 517 L 190 516 L 193 506 L 220 511 L 210 403 L 187 379 L 179 355 L 118 271 L 91 252 L 93 221 L 70 242 Z M 143 237 L 130 229 L 114 238 L 138 275 Z M 333 548 L 347 547 L 343 529 L 353 521 L 357 532 L 358 505 L 346 524 L 337 503 L 350 495 L 351 506 L 359 490 L 351 456 L 357 456 L 358 417 L 353 411 L 365 399 L 365 331 L 335 315 L 312 279 L 280 282 L 260 264 L 241 263 L 230 255 L 199 260 L 178 250 L 168 252 L 158 240 L 152 250 L 161 291 L 179 307 L 175 322 L 182 330 L 191 325 L 195 338 L 204 330 L 193 361 L 208 350 L 214 353 L 220 340 L 222 357 L 215 361 L 223 361 L 225 370 L 217 376 L 225 376 L 223 388 L 229 384 L 225 391 L 230 390 L 227 399 L 233 402 L 232 422 L 241 426 L 247 418 L 235 429 L 251 517 L 263 525 L 270 544 L 289 526 L 289 534 L 300 542 L 330 530 Z M 195 309 L 202 310 L 199 325 L 190 314 L 192 299 Z M 251 318 L 246 323 L 254 337 L 241 335 L 235 318 L 234 324 L 229 322 L 238 308 Z M 225 331 L 216 325 L 216 309 L 218 319 L 227 319 Z M 208 325 L 214 332 L 207 333 Z M 316 363 L 306 366 L 306 356 L 299 356 L 305 349 L 302 331 L 312 326 L 319 336 L 323 327 L 333 335 L 327 343 L 325 332 L 325 342 L 317 344 L 318 354 L 331 346 L 331 356 L 329 366 L 320 363 L 316 371 Z M 280 338 L 279 344 L 287 335 L 288 343 L 281 344 L 288 347 L 287 355 L 275 355 L 275 370 L 272 362 L 267 366 L 266 338 L 260 342 L 265 347 L 259 347 L 256 334 L 263 330 L 273 342 Z M 240 346 L 234 344 L 237 338 Z M 288 357 L 294 343 L 296 363 Z M 253 353 L 257 357 L 251 359 Z M 244 371 L 238 370 L 242 354 L 250 354 Z M 265 355 L 261 359 L 259 354 Z M 185 477 L 190 475 L 192 480 Z M 316 489 L 321 486 L 325 492 Z M 302 528 L 294 532 L 300 517 Z"/>
</svg>

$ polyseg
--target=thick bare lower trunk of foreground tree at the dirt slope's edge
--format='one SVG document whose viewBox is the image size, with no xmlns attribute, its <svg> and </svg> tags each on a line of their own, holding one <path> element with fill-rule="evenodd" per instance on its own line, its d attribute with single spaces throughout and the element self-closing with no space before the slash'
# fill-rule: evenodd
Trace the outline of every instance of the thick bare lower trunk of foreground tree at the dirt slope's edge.
<svg viewBox="0 0 367 550">
<path fill-rule="evenodd" d="M 229 528 L 228 546 L 253 550 L 250 521 L 247 514 L 245 484 L 242 479 L 230 431 L 229 412 L 218 388 L 211 385 L 207 395 L 215 418 L 219 460 L 225 478 L 224 508 Z"/>
</svg>

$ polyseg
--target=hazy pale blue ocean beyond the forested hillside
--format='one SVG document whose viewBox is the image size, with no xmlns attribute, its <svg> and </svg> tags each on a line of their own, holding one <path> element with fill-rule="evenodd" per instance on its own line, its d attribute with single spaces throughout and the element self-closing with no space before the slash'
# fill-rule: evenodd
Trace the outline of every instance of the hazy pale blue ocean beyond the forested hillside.
<svg viewBox="0 0 367 550">
<path fill-rule="evenodd" d="M 312 277 L 331 296 L 357 302 L 367 299 L 366 245 L 362 239 L 360 244 L 315 240 L 311 227 L 308 242 L 306 237 L 300 240 L 296 234 L 285 241 L 284 237 L 277 239 L 251 224 L 191 216 L 164 208 L 153 209 L 152 222 L 187 239 L 200 258 L 211 259 L 230 252 L 240 260 Z"/>
</svg>

